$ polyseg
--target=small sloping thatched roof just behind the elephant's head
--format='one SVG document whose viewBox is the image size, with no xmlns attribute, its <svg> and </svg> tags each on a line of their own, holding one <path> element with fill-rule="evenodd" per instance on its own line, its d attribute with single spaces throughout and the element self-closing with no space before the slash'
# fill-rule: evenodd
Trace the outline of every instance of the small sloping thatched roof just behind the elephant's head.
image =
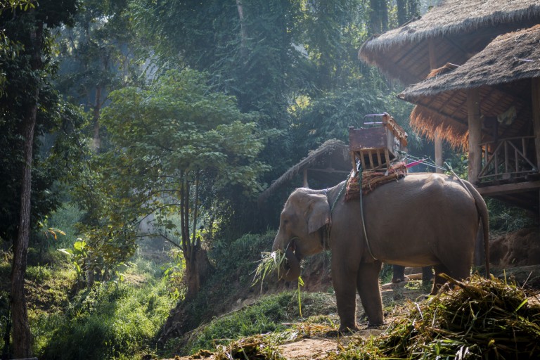
<svg viewBox="0 0 540 360">
<path fill-rule="evenodd" d="M 309 152 L 306 158 L 288 169 L 285 174 L 263 191 L 259 195 L 259 205 L 264 203 L 276 189 L 292 181 L 297 174 L 304 172 L 304 170 L 309 170 L 311 179 L 335 185 L 339 181 L 345 180 L 351 169 L 349 146 L 343 141 L 330 139 L 316 150 Z"/>
</svg>

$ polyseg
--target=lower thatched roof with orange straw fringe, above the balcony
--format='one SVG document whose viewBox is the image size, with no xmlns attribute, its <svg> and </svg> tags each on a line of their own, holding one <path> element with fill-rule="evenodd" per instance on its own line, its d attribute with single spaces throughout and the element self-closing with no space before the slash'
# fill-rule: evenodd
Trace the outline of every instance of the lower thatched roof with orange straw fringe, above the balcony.
<svg viewBox="0 0 540 360">
<path fill-rule="evenodd" d="M 517 119 L 500 130 L 517 136 L 532 116 L 529 79 L 534 77 L 540 77 L 540 25 L 497 37 L 465 64 L 409 86 L 399 98 L 418 105 L 411 113 L 414 129 L 466 146 L 468 89 L 479 89 L 484 117 L 514 106 Z"/>
</svg>

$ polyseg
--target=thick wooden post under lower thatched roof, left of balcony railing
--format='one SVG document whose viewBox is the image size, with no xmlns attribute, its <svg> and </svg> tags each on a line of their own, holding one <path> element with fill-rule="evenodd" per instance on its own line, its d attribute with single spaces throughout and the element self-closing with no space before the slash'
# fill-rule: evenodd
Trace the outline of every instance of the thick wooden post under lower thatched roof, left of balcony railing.
<svg viewBox="0 0 540 360">
<path fill-rule="evenodd" d="M 480 92 L 478 89 L 467 91 L 467 113 L 469 123 L 469 172 L 468 180 L 476 184 L 482 167 L 482 122 L 480 120 Z"/>
</svg>

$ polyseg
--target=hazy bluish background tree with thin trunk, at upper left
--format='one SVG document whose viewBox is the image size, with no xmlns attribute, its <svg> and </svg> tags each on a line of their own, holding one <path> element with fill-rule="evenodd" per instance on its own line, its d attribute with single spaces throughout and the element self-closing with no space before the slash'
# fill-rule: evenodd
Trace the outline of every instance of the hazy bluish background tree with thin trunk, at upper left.
<svg viewBox="0 0 540 360">
<path fill-rule="evenodd" d="M 126 85 L 134 42 L 127 0 L 84 0 L 73 27 L 65 27 L 60 41 L 58 89 L 91 113 L 92 148 L 101 148 L 99 117 L 108 93 Z"/>
</svg>

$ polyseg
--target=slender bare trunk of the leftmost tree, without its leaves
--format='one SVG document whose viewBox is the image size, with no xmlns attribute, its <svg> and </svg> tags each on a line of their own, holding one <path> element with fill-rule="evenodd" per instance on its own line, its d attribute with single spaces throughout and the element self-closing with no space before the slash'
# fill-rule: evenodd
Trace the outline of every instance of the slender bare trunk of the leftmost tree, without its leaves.
<svg viewBox="0 0 540 360">
<path fill-rule="evenodd" d="M 31 68 L 41 68 L 41 42 L 43 25 L 39 24 L 30 33 L 32 41 Z M 39 83 L 29 101 L 28 110 L 23 119 L 22 135 L 24 136 L 24 164 L 20 190 L 20 214 L 18 236 L 13 244 L 13 267 L 11 269 L 11 319 L 13 323 L 13 354 L 16 358 L 32 356 L 32 334 L 28 323 L 28 312 L 25 299 L 25 271 L 30 240 L 30 210 L 32 196 L 32 155 L 34 146 L 34 129 L 37 119 L 37 101 Z"/>
</svg>

